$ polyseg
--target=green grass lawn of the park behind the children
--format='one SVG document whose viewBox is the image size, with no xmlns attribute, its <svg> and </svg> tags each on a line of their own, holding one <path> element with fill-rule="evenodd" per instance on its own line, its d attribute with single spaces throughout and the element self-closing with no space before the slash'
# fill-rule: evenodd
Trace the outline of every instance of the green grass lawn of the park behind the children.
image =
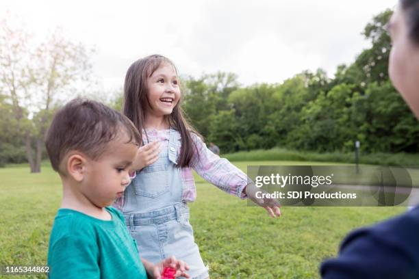
<svg viewBox="0 0 419 279">
<path fill-rule="evenodd" d="M 247 165 L 314 164 L 234 163 L 244 171 Z M 405 211 L 403 207 L 284 207 L 282 217 L 271 219 L 264 209 L 247 207 L 246 201 L 198 176 L 196 187 L 190 222 L 211 278 L 318 278 L 319 264 L 337 253 L 350 230 Z M 0 168 L 0 265 L 45 265 L 61 196 L 60 178 L 48 164 L 40 174 L 29 174 L 25 165 Z"/>
</svg>

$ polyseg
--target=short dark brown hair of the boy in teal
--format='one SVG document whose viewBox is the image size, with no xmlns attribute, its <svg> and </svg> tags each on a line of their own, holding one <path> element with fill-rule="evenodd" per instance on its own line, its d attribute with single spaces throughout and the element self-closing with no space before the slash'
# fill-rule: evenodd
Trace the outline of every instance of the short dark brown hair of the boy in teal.
<svg viewBox="0 0 419 279">
<path fill-rule="evenodd" d="M 45 135 L 53 169 L 62 173 L 60 163 L 71 150 L 99 159 L 106 145 L 121 132 L 128 135 L 127 143 L 140 142 L 140 133 L 126 116 L 96 101 L 73 99 L 56 112 Z"/>
</svg>

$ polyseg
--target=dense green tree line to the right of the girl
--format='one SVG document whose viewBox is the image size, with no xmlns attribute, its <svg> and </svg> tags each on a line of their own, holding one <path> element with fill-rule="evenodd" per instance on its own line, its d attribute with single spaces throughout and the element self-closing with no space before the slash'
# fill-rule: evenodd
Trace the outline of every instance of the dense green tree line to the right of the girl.
<svg viewBox="0 0 419 279">
<path fill-rule="evenodd" d="M 183 107 L 223 152 L 274 146 L 351 152 L 357 140 L 363 152 L 418 152 L 418 121 L 388 76 L 391 15 L 385 10 L 372 18 L 362 32 L 371 47 L 338 66 L 333 78 L 318 69 L 240 87 L 236 75 L 223 72 L 189 77 Z"/>
</svg>

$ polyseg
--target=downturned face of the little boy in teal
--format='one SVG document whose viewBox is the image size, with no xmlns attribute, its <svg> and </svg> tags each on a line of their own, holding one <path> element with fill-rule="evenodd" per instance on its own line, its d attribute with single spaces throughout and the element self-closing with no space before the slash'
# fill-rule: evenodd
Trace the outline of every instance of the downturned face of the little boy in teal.
<svg viewBox="0 0 419 279">
<path fill-rule="evenodd" d="M 131 183 L 129 166 L 137 155 L 137 146 L 127 137 L 107 144 L 97 161 L 86 161 L 86 173 L 80 191 L 97 207 L 107 207 L 119 198 Z"/>
</svg>

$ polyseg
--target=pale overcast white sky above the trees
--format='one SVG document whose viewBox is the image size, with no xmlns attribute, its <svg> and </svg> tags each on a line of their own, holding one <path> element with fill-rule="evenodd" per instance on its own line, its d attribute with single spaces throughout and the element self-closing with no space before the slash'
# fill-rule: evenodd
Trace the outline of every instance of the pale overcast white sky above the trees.
<svg viewBox="0 0 419 279">
<path fill-rule="evenodd" d="M 94 76 L 123 85 L 129 65 L 160 53 L 181 75 L 235 72 L 240 83 L 277 83 L 302 70 L 353 62 L 368 47 L 361 31 L 397 0 L 19 1 L 1 0 L 36 36 L 63 27 L 97 51 Z"/>
</svg>

